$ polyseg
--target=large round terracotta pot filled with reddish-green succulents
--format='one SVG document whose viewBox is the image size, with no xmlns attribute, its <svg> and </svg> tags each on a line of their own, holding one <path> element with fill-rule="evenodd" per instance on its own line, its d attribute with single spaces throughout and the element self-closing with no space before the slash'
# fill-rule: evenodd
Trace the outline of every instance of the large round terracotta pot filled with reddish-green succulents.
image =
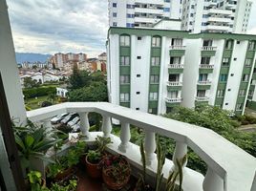
<svg viewBox="0 0 256 191">
<path fill-rule="evenodd" d="M 131 167 L 124 156 L 107 155 L 102 166 L 102 178 L 108 188 L 119 190 L 130 180 Z"/>
</svg>

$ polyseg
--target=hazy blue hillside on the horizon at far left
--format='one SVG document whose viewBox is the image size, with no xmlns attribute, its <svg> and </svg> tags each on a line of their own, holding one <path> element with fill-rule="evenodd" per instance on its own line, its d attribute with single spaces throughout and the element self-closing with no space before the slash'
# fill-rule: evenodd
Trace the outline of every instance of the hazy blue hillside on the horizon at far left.
<svg viewBox="0 0 256 191">
<path fill-rule="evenodd" d="M 17 63 L 22 62 L 45 62 L 49 57 L 51 57 L 51 54 L 42 54 L 42 53 L 16 53 L 16 60 Z"/>
</svg>

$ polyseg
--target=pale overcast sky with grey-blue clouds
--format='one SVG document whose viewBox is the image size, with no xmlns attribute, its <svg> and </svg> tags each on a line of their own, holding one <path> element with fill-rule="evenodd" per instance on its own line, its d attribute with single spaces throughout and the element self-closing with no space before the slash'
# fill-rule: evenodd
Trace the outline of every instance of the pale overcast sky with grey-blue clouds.
<svg viewBox="0 0 256 191">
<path fill-rule="evenodd" d="M 7 3 L 16 52 L 82 52 L 89 57 L 105 52 L 107 0 L 7 0 Z M 255 18 L 254 3 L 249 33 L 256 34 Z"/>
</svg>

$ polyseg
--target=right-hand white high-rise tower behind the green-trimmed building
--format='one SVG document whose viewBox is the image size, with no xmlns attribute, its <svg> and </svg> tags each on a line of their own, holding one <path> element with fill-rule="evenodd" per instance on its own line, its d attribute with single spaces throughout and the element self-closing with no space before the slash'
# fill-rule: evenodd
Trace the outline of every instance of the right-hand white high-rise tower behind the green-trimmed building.
<svg viewBox="0 0 256 191">
<path fill-rule="evenodd" d="M 245 33 L 251 0 L 183 0 L 181 30 Z"/>
</svg>

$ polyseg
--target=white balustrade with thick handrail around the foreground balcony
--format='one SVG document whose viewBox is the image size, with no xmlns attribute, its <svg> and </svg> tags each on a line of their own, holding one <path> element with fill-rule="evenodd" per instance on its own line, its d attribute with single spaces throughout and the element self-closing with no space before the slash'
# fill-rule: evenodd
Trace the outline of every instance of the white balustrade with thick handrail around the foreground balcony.
<svg viewBox="0 0 256 191">
<path fill-rule="evenodd" d="M 197 97 L 200 101 L 204 101 L 205 98 Z M 166 98 L 166 101 L 181 102 L 181 98 Z M 173 159 L 180 159 L 187 153 L 187 147 L 191 148 L 206 162 L 208 170 L 203 177 L 200 173 L 185 167 L 184 164 L 182 166 L 183 191 L 249 191 L 251 189 L 256 160 L 209 129 L 195 128 L 195 125 L 102 102 L 62 103 L 27 112 L 27 117 L 32 122 L 41 122 L 45 127 L 50 128 L 50 119 L 65 112 L 79 114 L 81 132 L 86 142 L 93 142 L 97 135 L 112 138 L 113 143 L 107 150 L 126 156 L 131 165 L 137 169 L 141 169 L 139 146 L 130 142 L 130 124 L 141 128 L 145 132 L 147 173 L 151 176 L 154 176 L 157 171 L 157 159 L 154 153 L 156 134 L 176 141 Z M 89 132 L 88 114 L 91 112 L 96 112 L 103 117 L 102 132 Z M 120 137 L 111 134 L 112 118 L 121 123 Z M 163 166 L 165 179 L 170 171 L 177 167 L 176 165 L 172 160 L 165 159 Z"/>
</svg>

